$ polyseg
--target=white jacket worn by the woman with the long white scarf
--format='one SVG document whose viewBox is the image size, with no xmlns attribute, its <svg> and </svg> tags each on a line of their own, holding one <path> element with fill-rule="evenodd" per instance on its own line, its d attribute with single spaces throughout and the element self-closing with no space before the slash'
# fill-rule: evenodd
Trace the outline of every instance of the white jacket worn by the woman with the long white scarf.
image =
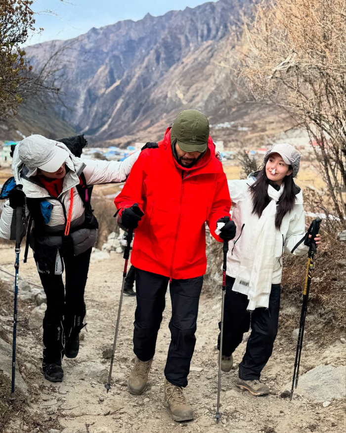
<svg viewBox="0 0 346 433">
<path fill-rule="evenodd" d="M 237 226 L 236 236 L 229 242 L 227 253 L 226 274 L 235 278 L 241 262 L 242 251 L 246 251 L 253 236 L 259 217 L 252 213 L 253 203 L 249 186 L 255 183 L 256 178 L 249 175 L 248 179 L 228 181 L 229 194 L 232 200 L 232 220 Z M 281 223 L 280 230 L 275 230 L 275 264 L 273 268 L 272 284 L 281 283 L 282 255 L 284 251 L 295 255 L 306 254 L 308 247 L 302 242 L 305 236 L 305 214 L 303 208 L 303 192 L 296 195 L 296 204 L 291 212 L 287 213 Z"/>
</svg>

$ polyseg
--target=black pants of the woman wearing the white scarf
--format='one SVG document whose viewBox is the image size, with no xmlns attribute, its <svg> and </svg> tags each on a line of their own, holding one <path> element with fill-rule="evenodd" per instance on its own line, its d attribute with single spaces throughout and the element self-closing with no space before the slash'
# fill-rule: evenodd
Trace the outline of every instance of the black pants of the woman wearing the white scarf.
<svg viewBox="0 0 346 433">
<path fill-rule="evenodd" d="M 222 354 L 230 356 L 242 342 L 243 334 L 251 327 L 246 352 L 239 364 L 239 378 L 253 381 L 268 362 L 275 341 L 279 320 L 280 284 L 272 284 L 268 308 L 247 310 L 248 297 L 232 291 L 234 278 L 226 277 L 226 293 L 223 320 Z M 219 328 L 221 324 L 219 323 Z M 220 335 L 218 336 L 219 346 Z"/>
</svg>

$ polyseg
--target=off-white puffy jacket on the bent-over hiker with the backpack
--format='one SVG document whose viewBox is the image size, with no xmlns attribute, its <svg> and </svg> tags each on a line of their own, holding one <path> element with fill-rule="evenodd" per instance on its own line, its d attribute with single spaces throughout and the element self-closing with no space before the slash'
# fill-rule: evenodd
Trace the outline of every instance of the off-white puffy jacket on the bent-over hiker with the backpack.
<svg viewBox="0 0 346 433">
<path fill-rule="evenodd" d="M 71 189 L 73 188 L 70 233 L 73 240 L 74 253 L 78 255 L 86 251 L 96 241 L 95 229 L 78 229 L 83 225 L 85 220 L 84 203 L 76 189 L 76 186 L 80 183 L 79 176 L 82 172 L 84 173 L 87 185 L 124 182 L 130 174 L 130 170 L 134 162 L 137 160 L 139 152 L 130 155 L 123 162 L 85 160 L 74 156 L 64 144 L 59 142 L 55 142 L 55 144 L 68 151 L 70 154 L 70 157 L 65 161 L 69 170 L 64 178 L 63 190 L 57 198 L 51 196 L 47 190 L 36 181 L 35 177 L 27 177 L 28 168 L 23 164 L 18 156 L 18 147 L 20 146 L 20 143 L 15 147 L 13 154 L 13 176 L 16 184 L 23 185 L 23 191 L 27 198 L 45 199 L 52 204 L 50 220 L 47 224 L 44 224 L 44 236 L 40 236 L 39 240 L 43 244 L 52 247 L 61 246 L 61 233 L 65 230 L 65 215 L 67 215 L 69 211 L 70 194 Z M 9 201 L 6 200 L 0 219 L 1 238 L 10 239 L 13 212 L 13 209 L 9 206 Z M 28 209 L 26 213 L 29 213 Z M 42 231 L 40 230 L 40 232 Z M 32 242 L 30 243 L 33 246 Z"/>
</svg>

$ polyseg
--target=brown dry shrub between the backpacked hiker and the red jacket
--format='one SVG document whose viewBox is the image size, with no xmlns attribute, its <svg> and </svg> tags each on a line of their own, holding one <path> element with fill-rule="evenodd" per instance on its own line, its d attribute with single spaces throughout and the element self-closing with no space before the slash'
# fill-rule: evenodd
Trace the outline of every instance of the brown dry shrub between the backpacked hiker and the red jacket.
<svg viewBox="0 0 346 433">
<path fill-rule="evenodd" d="M 95 246 L 101 248 L 103 243 L 107 241 L 108 235 L 118 231 L 116 218 L 114 218 L 117 209 L 113 200 L 105 197 L 93 196 L 91 204 L 99 226 Z"/>
</svg>

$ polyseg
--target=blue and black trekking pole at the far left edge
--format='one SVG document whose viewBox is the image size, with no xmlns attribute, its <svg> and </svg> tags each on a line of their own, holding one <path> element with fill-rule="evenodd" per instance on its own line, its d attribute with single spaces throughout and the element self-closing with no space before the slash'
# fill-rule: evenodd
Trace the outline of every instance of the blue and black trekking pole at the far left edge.
<svg viewBox="0 0 346 433">
<path fill-rule="evenodd" d="M 17 186 L 17 188 L 21 185 Z M 15 373 L 16 373 L 16 337 L 17 337 L 17 297 L 18 297 L 18 271 L 19 271 L 19 253 L 21 242 L 21 222 L 22 222 L 22 206 L 16 208 L 16 244 L 15 253 L 16 261 L 14 263 L 15 277 L 14 277 L 14 312 L 13 312 L 13 340 L 12 340 L 12 382 L 11 382 L 11 397 L 10 402 L 13 404 L 16 397 L 14 395 Z"/>
</svg>

